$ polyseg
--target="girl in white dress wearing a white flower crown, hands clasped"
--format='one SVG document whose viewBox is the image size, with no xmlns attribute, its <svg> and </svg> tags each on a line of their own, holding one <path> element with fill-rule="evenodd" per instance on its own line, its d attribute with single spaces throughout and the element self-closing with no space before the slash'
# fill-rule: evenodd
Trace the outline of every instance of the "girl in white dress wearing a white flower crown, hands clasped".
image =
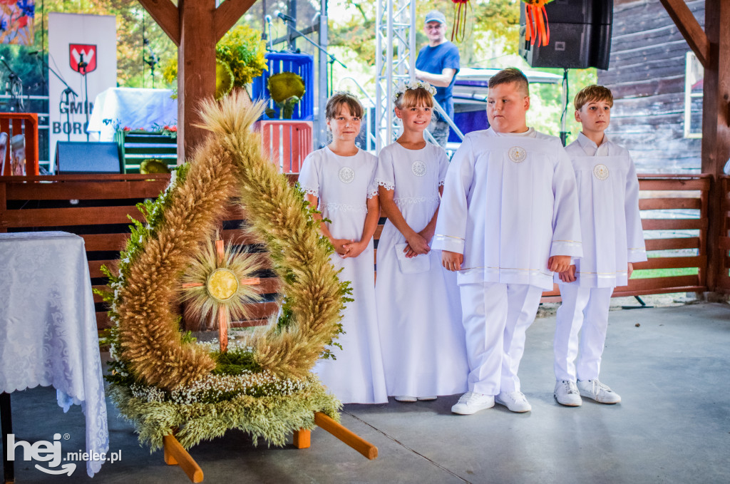
<svg viewBox="0 0 730 484">
<path fill-rule="evenodd" d="M 446 152 L 423 131 L 434 106 L 431 85 L 412 82 L 396 94 L 403 134 L 380 151 L 375 181 L 388 221 L 377 246 L 377 316 L 388 395 L 399 402 L 466 391 L 464 326 L 455 274 L 431 251 Z"/>
</svg>

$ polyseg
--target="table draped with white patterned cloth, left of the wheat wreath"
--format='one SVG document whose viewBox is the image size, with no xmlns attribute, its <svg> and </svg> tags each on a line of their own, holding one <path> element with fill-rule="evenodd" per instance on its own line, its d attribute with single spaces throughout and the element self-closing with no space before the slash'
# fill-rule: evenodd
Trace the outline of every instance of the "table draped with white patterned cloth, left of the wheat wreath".
<svg viewBox="0 0 730 484">
<path fill-rule="evenodd" d="M 0 391 L 38 385 L 53 385 L 64 412 L 80 404 L 86 450 L 107 453 L 107 404 L 84 239 L 60 231 L 0 234 Z M 50 441 L 53 425 L 48 429 Z M 88 475 L 101 464 L 87 461 Z"/>
</svg>

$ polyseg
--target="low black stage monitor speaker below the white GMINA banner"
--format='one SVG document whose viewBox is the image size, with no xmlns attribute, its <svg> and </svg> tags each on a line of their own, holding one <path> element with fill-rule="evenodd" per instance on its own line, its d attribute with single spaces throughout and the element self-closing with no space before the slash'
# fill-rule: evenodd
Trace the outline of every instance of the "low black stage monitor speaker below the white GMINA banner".
<svg viewBox="0 0 730 484">
<path fill-rule="evenodd" d="M 59 141 L 55 145 L 58 174 L 123 173 L 115 142 Z"/>
</svg>

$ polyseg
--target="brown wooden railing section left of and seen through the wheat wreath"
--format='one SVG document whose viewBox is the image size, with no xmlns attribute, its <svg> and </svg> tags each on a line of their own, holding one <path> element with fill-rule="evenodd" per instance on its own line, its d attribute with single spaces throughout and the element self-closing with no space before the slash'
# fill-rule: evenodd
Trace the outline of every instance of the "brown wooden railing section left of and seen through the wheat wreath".
<svg viewBox="0 0 730 484">
<path fill-rule="evenodd" d="M 62 230 L 83 237 L 88 258 L 91 284 L 104 288 L 107 279 L 101 266 L 113 267 L 119 251 L 129 235 L 127 215 L 142 220 L 136 204 L 155 198 L 169 183 L 169 174 L 69 174 L 55 177 L 0 177 L 0 232 Z M 225 239 L 239 245 L 250 241 L 237 227 L 242 214 L 231 207 L 224 217 Z M 272 293 L 277 281 L 264 269 L 259 291 L 261 303 L 248 307 L 250 320 L 232 326 L 258 326 L 277 310 Z M 107 308 L 100 296 L 94 295 L 99 329 L 109 326 Z M 188 322 L 186 329 L 196 329 Z"/>
</svg>

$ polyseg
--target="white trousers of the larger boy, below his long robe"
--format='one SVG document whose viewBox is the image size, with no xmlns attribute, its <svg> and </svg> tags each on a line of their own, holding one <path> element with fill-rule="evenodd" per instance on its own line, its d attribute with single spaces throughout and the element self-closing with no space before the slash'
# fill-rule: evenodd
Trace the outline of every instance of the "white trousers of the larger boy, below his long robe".
<svg viewBox="0 0 730 484">
<path fill-rule="evenodd" d="M 459 286 L 469 391 L 497 395 L 519 391 L 517 372 L 525 351 L 525 332 L 532 324 L 542 289 L 526 284 Z"/>
</svg>

